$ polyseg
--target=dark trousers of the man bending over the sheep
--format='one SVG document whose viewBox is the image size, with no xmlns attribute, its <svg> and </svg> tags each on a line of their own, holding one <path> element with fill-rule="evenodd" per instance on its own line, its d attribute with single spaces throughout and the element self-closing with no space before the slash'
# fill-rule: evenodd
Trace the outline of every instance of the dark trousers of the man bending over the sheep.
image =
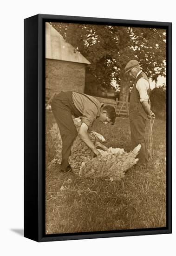
<svg viewBox="0 0 176 256">
<path fill-rule="evenodd" d="M 61 92 L 54 96 L 52 100 L 52 113 L 59 126 L 62 138 L 62 162 L 60 167 L 61 170 L 66 170 L 69 165 L 68 159 L 71 155 L 72 144 L 78 135 L 72 115 L 82 115 L 74 106 L 72 92 Z"/>
</svg>

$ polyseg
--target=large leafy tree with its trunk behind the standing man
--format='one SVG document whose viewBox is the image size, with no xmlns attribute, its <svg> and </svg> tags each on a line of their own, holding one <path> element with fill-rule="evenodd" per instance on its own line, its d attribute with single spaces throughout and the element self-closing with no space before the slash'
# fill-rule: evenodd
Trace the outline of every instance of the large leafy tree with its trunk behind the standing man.
<svg viewBox="0 0 176 256">
<path fill-rule="evenodd" d="M 144 27 L 51 23 L 64 39 L 91 62 L 91 74 L 99 88 L 109 88 L 116 80 L 120 100 L 128 99 L 131 81 L 124 67 L 137 59 L 152 80 L 166 75 L 166 31 Z"/>
</svg>

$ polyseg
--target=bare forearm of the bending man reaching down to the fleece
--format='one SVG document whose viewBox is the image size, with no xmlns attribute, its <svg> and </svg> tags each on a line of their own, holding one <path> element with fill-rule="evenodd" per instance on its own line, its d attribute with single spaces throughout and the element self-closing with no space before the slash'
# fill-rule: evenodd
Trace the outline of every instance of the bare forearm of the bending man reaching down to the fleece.
<svg viewBox="0 0 176 256">
<path fill-rule="evenodd" d="M 95 147 L 95 145 L 93 144 L 93 142 L 90 140 L 89 135 L 87 133 L 88 131 L 88 126 L 83 122 L 81 124 L 81 127 L 79 129 L 79 135 L 81 137 L 81 139 L 85 142 L 85 144 L 91 148 L 91 150 L 93 151 L 93 153 L 95 155 L 97 155 L 97 157 L 99 157 L 101 154 L 100 152 L 97 150 L 97 148 Z"/>
</svg>

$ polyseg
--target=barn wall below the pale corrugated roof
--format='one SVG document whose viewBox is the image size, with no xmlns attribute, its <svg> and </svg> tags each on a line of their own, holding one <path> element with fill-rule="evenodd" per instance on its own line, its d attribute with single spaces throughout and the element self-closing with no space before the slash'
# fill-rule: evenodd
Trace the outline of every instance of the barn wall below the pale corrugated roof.
<svg viewBox="0 0 176 256">
<path fill-rule="evenodd" d="M 85 89 L 85 64 L 46 59 L 46 100 L 54 92 Z"/>
</svg>

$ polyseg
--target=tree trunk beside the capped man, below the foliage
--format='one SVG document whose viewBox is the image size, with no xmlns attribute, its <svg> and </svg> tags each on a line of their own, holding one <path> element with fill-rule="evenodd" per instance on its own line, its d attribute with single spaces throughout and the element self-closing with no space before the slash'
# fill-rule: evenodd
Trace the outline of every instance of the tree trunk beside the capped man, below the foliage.
<svg viewBox="0 0 176 256">
<path fill-rule="evenodd" d="M 128 101 L 130 83 L 127 75 L 122 75 L 120 78 L 120 95 L 119 101 Z"/>
</svg>

